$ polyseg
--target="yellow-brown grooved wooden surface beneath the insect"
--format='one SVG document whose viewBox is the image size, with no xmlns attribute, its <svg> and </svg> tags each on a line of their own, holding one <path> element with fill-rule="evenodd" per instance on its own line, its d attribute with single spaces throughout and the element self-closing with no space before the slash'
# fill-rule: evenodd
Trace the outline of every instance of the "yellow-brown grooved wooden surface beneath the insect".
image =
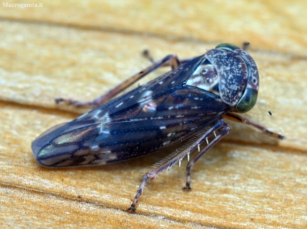
<svg viewBox="0 0 307 229">
<path fill-rule="evenodd" d="M 38 2 L 0 7 L 1 228 L 307 227 L 306 1 Z M 35 137 L 83 112 L 54 98 L 94 99 L 148 66 L 144 49 L 193 57 L 245 41 L 262 103 L 248 115 L 286 139 L 229 122 L 193 167 L 191 192 L 181 190 L 184 160 L 148 183 L 136 214 L 125 212 L 141 174 L 170 151 L 89 168 L 33 158 Z"/>
</svg>

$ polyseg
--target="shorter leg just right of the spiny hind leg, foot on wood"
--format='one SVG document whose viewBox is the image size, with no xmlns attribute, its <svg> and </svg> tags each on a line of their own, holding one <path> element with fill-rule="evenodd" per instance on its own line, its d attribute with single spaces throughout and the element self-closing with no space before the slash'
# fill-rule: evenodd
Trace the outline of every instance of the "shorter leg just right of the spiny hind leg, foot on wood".
<svg viewBox="0 0 307 229">
<path fill-rule="evenodd" d="M 183 190 L 191 190 L 190 187 L 190 181 L 191 181 L 191 167 L 209 150 L 214 146 L 219 140 L 221 140 L 226 134 L 229 133 L 230 127 L 229 125 L 223 121 L 223 125 L 219 127 L 219 130 L 221 131 L 211 142 L 209 142 L 204 149 L 202 149 L 197 155 L 194 156 L 194 158 L 189 161 L 187 165 L 187 182 L 186 186 L 183 188 Z M 217 129 L 215 129 L 217 130 Z M 213 133 L 215 134 L 215 130 Z M 211 133 L 212 134 L 212 133 Z"/>
</svg>

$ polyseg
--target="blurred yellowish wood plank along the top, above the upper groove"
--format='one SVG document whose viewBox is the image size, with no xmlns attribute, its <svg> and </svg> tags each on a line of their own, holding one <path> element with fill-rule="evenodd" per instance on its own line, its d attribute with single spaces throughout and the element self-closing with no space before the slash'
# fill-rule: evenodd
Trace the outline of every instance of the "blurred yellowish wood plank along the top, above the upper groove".
<svg viewBox="0 0 307 229">
<path fill-rule="evenodd" d="M 249 41 L 253 46 L 306 56 L 306 3 L 301 0 L 82 0 L 48 1 L 43 7 L 0 7 L 2 18 L 118 31 L 178 40 Z M 11 3 L 25 3 L 12 0 Z M 28 3 L 28 2 L 27 2 Z M 3 4 L 3 3 L 2 3 Z"/>
</svg>

